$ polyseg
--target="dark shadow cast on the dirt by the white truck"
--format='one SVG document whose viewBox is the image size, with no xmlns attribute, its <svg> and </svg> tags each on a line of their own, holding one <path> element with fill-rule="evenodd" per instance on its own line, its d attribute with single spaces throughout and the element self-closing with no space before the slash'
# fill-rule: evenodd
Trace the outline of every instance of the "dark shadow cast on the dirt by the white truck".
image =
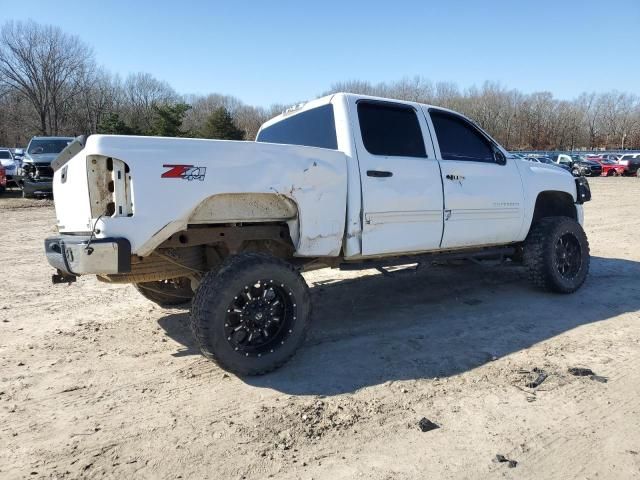
<svg viewBox="0 0 640 480">
<path fill-rule="evenodd" d="M 640 263 L 623 259 L 592 257 L 587 282 L 574 295 L 537 291 L 518 267 L 441 266 L 353 280 L 333 273 L 311 282 L 313 326 L 298 354 L 243 381 L 292 395 L 335 395 L 451 376 L 640 309 Z M 185 345 L 177 355 L 198 353 L 186 314 L 159 323 Z"/>
</svg>

